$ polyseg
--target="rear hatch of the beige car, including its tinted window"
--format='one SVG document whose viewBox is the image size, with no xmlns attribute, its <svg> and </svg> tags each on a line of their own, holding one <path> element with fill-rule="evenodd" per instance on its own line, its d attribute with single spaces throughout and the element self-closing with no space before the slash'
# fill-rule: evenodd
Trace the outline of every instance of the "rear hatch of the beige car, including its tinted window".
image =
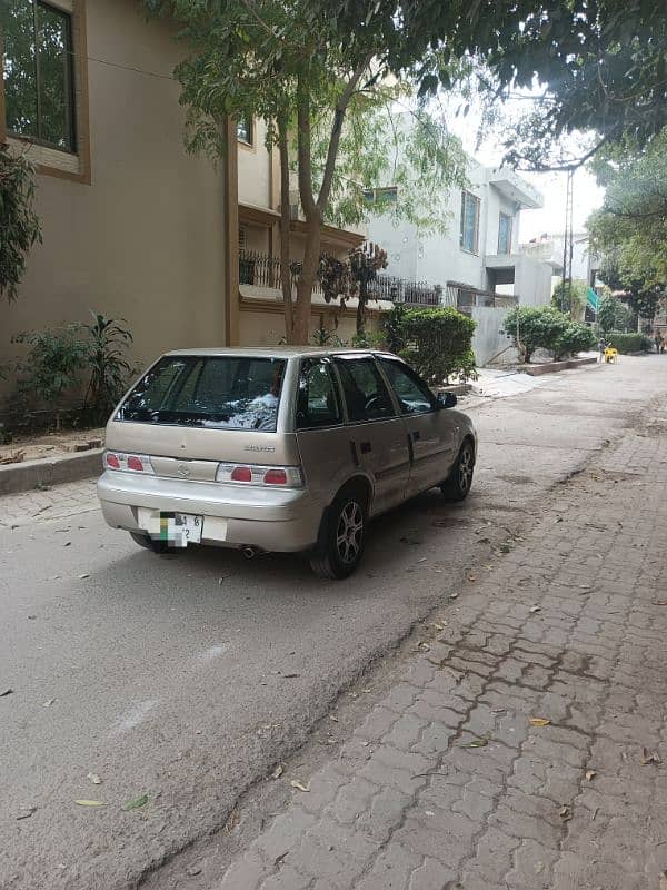
<svg viewBox="0 0 667 890">
<path fill-rule="evenodd" d="M 298 465 L 296 437 L 276 432 L 286 370 L 270 356 L 166 355 L 109 422 L 107 448 L 197 482 L 213 482 L 226 463 Z"/>
</svg>

